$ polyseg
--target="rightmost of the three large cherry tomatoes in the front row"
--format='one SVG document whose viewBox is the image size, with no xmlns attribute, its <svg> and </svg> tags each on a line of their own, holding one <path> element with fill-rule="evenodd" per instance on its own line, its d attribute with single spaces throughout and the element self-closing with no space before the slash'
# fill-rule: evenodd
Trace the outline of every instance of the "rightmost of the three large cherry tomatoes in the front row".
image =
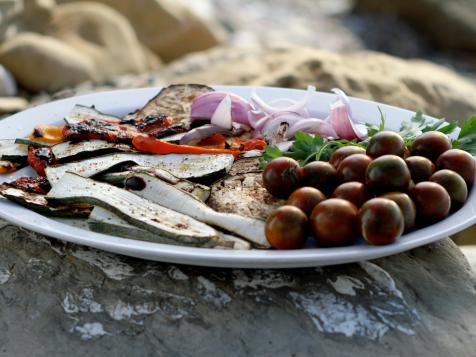
<svg viewBox="0 0 476 357">
<path fill-rule="evenodd" d="M 370 244 L 391 244 L 404 229 L 403 214 L 398 205 L 387 198 L 372 198 L 359 210 L 359 226 Z"/>
</svg>

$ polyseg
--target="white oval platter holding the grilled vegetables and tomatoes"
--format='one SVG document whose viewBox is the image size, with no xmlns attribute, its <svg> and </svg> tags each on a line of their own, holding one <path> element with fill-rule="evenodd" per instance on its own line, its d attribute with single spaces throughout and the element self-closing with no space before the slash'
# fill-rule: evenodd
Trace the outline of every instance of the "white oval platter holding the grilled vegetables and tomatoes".
<svg viewBox="0 0 476 357">
<path fill-rule="evenodd" d="M 276 98 L 299 100 L 305 93 L 303 90 L 267 87 L 215 86 L 215 88 L 236 93 L 244 98 L 249 98 L 251 91 L 255 89 L 265 100 Z M 142 107 L 159 90 L 160 88 L 119 90 L 50 102 L 1 120 L 0 137 L 5 139 L 25 137 L 37 124 L 58 124 L 75 104 L 94 105 L 101 112 L 122 116 Z M 314 113 L 328 113 L 329 105 L 335 99 L 334 94 L 316 92 L 310 100 L 309 109 Z M 357 98 L 350 98 L 350 105 L 355 119 L 374 124 L 379 123 L 378 107 L 380 107 L 385 114 L 387 128 L 394 130 L 400 127 L 403 120 L 410 120 L 415 114 L 405 109 Z M 24 173 L 25 169 L 13 175 L 0 176 L 0 182 L 9 181 Z M 369 246 L 361 242 L 340 248 L 287 251 L 230 251 L 180 247 L 91 232 L 42 216 L 6 199 L 0 199 L 0 217 L 15 225 L 67 242 L 143 259 L 211 267 L 297 268 L 343 264 L 389 256 L 459 232 L 476 222 L 476 192 L 472 190 L 464 207 L 445 220 L 406 234 L 398 242 L 386 246 Z"/>
</svg>

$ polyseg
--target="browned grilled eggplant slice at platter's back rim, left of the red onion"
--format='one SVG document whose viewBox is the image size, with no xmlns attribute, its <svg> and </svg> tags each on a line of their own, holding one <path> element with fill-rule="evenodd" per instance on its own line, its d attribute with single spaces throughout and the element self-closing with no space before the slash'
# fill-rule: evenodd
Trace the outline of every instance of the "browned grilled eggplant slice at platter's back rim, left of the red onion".
<svg viewBox="0 0 476 357">
<path fill-rule="evenodd" d="M 170 128 L 175 128 L 176 133 L 187 131 L 191 127 L 190 111 L 193 100 L 200 94 L 212 91 L 213 88 L 203 84 L 172 84 L 163 88 L 134 116 L 147 118 L 166 114 L 172 118 Z M 170 129 L 167 134 L 172 135 Z"/>
</svg>

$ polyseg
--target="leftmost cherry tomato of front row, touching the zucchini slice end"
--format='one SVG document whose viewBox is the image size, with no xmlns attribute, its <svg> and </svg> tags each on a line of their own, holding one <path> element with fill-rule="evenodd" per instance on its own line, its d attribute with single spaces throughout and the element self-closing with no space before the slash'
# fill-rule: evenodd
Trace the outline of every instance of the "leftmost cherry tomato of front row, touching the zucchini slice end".
<svg viewBox="0 0 476 357">
<path fill-rule="evenodd" d="M 265 235 L 273 248 L 301 248 L 307 237 L 307 216 L 295 206 L 281 206 L 266 220 Z"/>
</svg>

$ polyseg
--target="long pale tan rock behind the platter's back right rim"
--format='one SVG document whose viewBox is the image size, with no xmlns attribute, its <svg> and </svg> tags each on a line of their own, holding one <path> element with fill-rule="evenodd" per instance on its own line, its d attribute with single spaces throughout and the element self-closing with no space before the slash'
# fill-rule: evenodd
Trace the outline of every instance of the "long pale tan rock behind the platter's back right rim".
<svg viewBox="0 0 476 357">
<path fill-rule="evenodd" d="M 476 85 L 454 71 L 375 52 L 219 48 L 178 60 L 160 75 L 174 82 L 339 87 L 352 96 L 460 122 L 476 114 Z"/>
</svg>

